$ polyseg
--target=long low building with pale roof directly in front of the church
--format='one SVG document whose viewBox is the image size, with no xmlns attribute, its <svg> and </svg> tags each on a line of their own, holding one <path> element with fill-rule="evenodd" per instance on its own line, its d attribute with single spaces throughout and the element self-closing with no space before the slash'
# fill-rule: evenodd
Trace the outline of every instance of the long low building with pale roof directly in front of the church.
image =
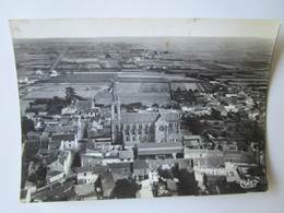
<svg viewBox="0 0 284 213">
<path fill-rule="evenodd" d="M 184 153 L 181 142 L 137 144 L 137 155 L 139 159 L 176 158 L 178 153 Z"/>
</svg>

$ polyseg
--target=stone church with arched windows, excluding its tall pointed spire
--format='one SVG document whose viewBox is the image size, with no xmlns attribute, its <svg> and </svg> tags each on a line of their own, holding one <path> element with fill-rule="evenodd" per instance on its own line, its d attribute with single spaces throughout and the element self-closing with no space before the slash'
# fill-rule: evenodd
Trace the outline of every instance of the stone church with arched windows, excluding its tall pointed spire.
<svg viewBox="0 0 284 213">
<path fill-rule="evenodd" d="M 139 143 L 180 142 L 179 113 L 121 113 L 120 104 L 111 104 L 111 139 L 114 144 L 134 146 Z"/>
</svg>

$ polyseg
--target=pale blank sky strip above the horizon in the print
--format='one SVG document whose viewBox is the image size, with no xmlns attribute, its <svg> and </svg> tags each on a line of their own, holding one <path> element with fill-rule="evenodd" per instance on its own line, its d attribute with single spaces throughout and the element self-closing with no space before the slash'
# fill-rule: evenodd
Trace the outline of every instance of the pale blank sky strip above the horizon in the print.
<svg viewBox="0 0 284 213">
<path fill-rule="evenodd" d="M 13 38 L 258 37 L 275 39 L 277 20 L 57 19 L 10 20 Z"/>
</svg>

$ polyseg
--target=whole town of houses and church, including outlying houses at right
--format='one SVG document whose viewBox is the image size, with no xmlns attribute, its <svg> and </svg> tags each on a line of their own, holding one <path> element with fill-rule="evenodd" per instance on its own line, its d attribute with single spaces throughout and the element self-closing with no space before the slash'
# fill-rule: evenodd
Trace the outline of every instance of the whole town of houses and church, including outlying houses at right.
<svg viewBox="0 0 284 213">
<path fill-rule="evenodd" d="M 267 186 L 264 153 L 256 144 L 210 146 L 203 135 L 181 127 L 182 111 L 227 116 L 252 110 L 253 100 L 233 88 L 215 95 L 193 92 L 203 104 L 181 110 L 126 111 L 115 87 L 110 107 L 74 100 L 50 116 L 45 104 L 31 103 L 38 113 L 25 114 L 35 131 L 23 140 L 27 166 L 22 201 L 126 198 L 117 194 L 120 185 L 121 193 L 131 198 L 246 192 Z"/>
</svg>

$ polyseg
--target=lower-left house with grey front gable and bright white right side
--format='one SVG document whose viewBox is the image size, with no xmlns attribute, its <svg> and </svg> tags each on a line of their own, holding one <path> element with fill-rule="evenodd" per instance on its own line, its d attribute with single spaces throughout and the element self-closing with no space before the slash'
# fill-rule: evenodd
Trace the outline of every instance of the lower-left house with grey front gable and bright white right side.
<svg viewBox="0 0 284 213">
<path fill-rule="evenodd" d="M 47 171 L 62 171 L 64 175 L 70 174 L 74 154 L 71 151 L 59 151 L 57 158 L 47 165 Z"/>
</svg>

